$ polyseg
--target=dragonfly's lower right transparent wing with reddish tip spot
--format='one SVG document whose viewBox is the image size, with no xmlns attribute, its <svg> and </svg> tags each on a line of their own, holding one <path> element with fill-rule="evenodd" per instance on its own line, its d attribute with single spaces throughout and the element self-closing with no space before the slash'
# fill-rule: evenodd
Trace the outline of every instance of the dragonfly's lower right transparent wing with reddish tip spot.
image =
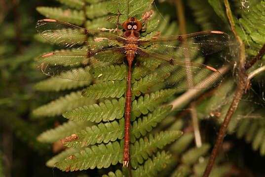
<svg viewBox="0 0 265 177">
<path fill-rule="evenodd" d="M 211 66 L 172 59 L 141 48 L 137 49 L 137 55 L 139 67 L 149 75 L 146 78 L 165 88 L 206 89 L 221 82 L 222 74 Z"/>
</svg>

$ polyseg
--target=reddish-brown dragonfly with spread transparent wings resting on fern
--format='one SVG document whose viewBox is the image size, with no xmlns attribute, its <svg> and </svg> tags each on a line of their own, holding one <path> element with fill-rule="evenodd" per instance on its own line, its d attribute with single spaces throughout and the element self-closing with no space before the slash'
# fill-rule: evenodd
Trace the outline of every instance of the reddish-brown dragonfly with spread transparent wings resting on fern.
<svg viewBox="0 0 265 177">
<path fill-rule="evenodd" d="M 45 75 L 91 81 L 102 78 L 106 66 L 126 65 L 123 166 L 127 167 L 130 161 L 132 69 L 141 68 L 143 77 L 164 88 L 206 89 L 207 86 L 200 81 L 218 83 L 221 73 L 211 66 L 185 60 L 187 53 L 213 54 L 226 47 L 228 40 L 227 33 L 215 30 L 141 38 L 145 23 L 130 17 L 119 24 L 124 30 L 121 35 L 80 28 L 54 19 L 39 20 L 36 25 L 38 33 L 49 42 L 75 49 L 39 57 L 36 66 Z M 78 77 L 78 72 L 74 72 L 78 68 L 86 69 L 91 77 Z M 95 75 L 95 71 L 101 74 Z"/>
</svg>

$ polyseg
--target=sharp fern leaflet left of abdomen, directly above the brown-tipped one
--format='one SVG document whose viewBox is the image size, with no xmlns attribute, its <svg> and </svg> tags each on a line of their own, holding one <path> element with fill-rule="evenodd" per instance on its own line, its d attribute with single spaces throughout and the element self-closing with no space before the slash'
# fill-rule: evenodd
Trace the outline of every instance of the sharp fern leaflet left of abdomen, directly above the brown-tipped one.
<svg viewBox="0 0 265 177">
<path fill-rule="evenodd" d="M 112 101 L 105 100 L 104 103 L 79 107 L 75 110 L 64 113 L 63 116 L 75 121 L 110 121 L 123 117 L 124 105 L 125 99 L 121 97 L 118 101 L 116 99 L 113 99 Z"/>
</svg>

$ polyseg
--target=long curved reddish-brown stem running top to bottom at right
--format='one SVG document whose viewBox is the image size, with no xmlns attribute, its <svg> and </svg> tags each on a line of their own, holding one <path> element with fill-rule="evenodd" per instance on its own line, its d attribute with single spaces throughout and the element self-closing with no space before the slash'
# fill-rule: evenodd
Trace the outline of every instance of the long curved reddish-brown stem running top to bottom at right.
<svg viewBox="0 0 265 177">
<path fill-rule="evenodd" d="M 208 177 L 210 172 L 211 172 L 215 158 L 216 158 L 216 156 L 219 152 L 219 149 L 223 143 L 223 140 L 224 140 L 224 137 L 225 137 L 225 134 L 227 131 L 227 126 L 228 126 L 229 121 L 230 121 L 231 117 L 233 116 L 235 110 L 237 109 L 238 103 L 240 102 L 241 97 L 244 93 L 244 89 L 246 87 L 246 81 L 247 81 L 246 80 L 246 70 L 244 68 L 245 61 L 246 61 L 245 46 L 244 46 L 241 38 L 239 37 L 239 35 L 236 33 L 235 24 L 233 21 L 233 16 L 232 16 L 232 12 L 231 12 L 228 0 L 224 0 L 224 3 L 226 6 L 226 11 L 227 11 L 227 18 L 229 20 L 231 29 L 232 29 L 235 37 L 236 37 L 236 40 L 239 43 L 239 48 L 240 48 L 240 53 L 239 53 L 240 64 L 239 64 L 239 70 L 238 70 L 238 83 L 237 83 L 237 88 L 235 91 L 233 101 L 232 101 L 232 103 L 231 103 L 231 105 L 227 111 L 227 115 L 226 115 L 224 122 L 223 122 L 223 124 L 219 130 L 219 134 L 218 134 L 215 146 L 212 150 L 212 153 L 211 153 L 210 159 L 208 161 L 208 164 L 206 166 L 206 169 L 204 171 L 203 177 Z"/>
</svg>

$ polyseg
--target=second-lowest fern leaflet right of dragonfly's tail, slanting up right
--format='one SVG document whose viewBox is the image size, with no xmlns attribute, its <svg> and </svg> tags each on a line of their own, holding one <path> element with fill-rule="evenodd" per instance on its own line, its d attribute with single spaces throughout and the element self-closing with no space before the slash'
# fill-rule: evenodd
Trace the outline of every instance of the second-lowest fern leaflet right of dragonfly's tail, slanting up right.
<svg viewBox="0 0 265 177">
<path fill-rule="evenodd" d="M 164 131 L 155 134 L 154 137 L 150 134 L 149 138 L 139 139 L 134 145 L 130 146 L 131 166 L 136 168 L 138 163 L 142 164 L 157 148 L 163 148 L 165 145 L 174 142 L 181 135 L 181 131 Z"/>
</svg>

